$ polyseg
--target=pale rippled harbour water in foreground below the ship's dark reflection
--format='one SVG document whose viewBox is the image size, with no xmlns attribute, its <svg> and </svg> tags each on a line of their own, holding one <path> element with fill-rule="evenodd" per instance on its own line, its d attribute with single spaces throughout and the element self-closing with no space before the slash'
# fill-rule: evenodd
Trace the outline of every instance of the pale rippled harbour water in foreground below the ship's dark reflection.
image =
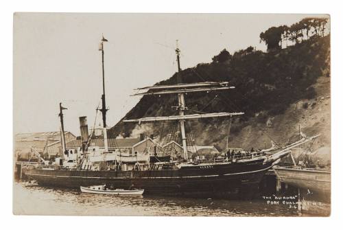
<svg viewBox="0 0 343 230">
<path fill-rule="evenodd" d="M 300 216 L 294 205 L 256 200 L 84 194 L 14 183 L 14 214 L 86 216 Z M 302 216 L 322 216 L 302 214 Z"/>
</svg>

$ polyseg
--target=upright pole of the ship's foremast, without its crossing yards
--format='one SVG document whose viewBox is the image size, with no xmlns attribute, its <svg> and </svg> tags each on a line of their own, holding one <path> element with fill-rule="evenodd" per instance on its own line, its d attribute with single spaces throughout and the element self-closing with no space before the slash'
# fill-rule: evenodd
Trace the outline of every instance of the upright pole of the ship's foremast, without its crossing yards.
<svg viewBox="0 0 343 230">
<path fill-rule="evenodd" d="M 178 74 L 177 74 L 177 82 L 178 84 L 182 83 L 182 78 L 181 78 L 181 68 L 180 68 L 180 49 L 178 49 L 178 40 L 176 40 L 176 59 L 178 60 Z M 178 115 L 180 117 L 185 115 L 185 96 L 184 93 L 180 92 L 178 93 Z M 182 138 L 182 158 L 187 160 L 188 155 L 187 155 L 187 137 L 186 137 L 186 132 L 185 132 L 185 119 L 180 119 L 180 128 L 181 128 L 181 138 Z"/>
</svg>

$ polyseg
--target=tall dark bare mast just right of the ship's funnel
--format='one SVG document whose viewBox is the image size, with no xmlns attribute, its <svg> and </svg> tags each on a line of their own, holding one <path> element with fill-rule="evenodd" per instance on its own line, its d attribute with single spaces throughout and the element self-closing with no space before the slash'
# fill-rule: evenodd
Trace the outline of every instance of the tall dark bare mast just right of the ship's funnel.
<svg viewBox="0 0 343 230">
<path fill-rule="evenodd" d="M 102 36 L 102 41 L 100 41 L 99 44 L 99 50 L 102 51 L 102 123 L 104 128 L 104 147 L 105 152 L 108 152 L 108 142 L 107 142 L 107 126 L 106 126 L 106 112 L 108 111 L 108 108 L 106 108 L 106 99 L 105 99 L 105 71 L 104 71 L 104 42 L 106 42 L 107 39 L 104 38 L 104 35 Z"/>
</svg>

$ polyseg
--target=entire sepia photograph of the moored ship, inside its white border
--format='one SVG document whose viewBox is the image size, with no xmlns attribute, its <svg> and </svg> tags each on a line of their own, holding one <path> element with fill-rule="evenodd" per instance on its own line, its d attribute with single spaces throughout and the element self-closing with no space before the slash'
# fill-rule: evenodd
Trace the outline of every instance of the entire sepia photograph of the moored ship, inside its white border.
<svg viewBox="0 0 343 230">
<path fill-rule="evenodd" d="M 13 214 L 331 215 L 323 14 L 13 14 Z"/>
</svg>

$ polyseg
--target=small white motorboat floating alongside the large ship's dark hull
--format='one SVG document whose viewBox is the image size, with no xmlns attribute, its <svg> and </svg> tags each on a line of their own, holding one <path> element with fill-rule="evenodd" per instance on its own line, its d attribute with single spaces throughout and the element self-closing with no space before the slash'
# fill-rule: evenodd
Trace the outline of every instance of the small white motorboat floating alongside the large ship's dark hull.
<svg viewBox="0 0 343 230">
<path fill-rule="evenodd" d="M 94 185 L 88 187 L 80 186 L 81 192 L 92 194 L 130 195 L 137 196 L 144 192 L 144 189 L 108 189 L 106 185 Z"/>
</svg>

